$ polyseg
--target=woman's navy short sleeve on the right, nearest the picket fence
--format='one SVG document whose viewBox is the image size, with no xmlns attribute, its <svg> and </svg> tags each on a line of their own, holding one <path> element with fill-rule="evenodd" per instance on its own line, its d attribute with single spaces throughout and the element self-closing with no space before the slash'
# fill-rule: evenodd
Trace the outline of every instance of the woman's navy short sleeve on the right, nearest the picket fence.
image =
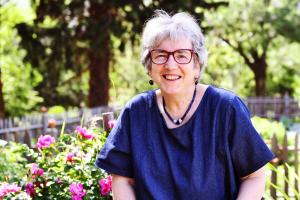
<svg viewBox="0 0 300 200">
<path fill-rule="evenodd" d="M 255 130 L 250 113 L 239 97 L 231 103 L 229 145 L 235 171 L 247 176 L 267 164 L 274 155 Z"/>
</svg>

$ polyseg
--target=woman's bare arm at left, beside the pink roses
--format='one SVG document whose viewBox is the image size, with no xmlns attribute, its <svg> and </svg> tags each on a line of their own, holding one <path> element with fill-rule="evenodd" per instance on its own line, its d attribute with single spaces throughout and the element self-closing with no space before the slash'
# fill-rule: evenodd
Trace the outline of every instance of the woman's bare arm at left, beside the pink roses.
<svg viewBox="0 0 300 200">
<path fill-rule="evenodd" d="M 112 192 L 114 200 L 135 200 L 134 179 L 112 175 Z"/>
</svg>

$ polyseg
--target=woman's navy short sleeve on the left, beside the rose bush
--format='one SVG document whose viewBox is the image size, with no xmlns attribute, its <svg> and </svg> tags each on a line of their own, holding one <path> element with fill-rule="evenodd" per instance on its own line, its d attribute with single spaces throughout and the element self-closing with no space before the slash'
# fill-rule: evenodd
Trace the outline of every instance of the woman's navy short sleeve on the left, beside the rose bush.
<svg viewBox="0 0 300 200">
<path fill-rule="evenodd" d="M 128 115 L 129 111 L 125 108 L 109 133 L 95 165 L 109 173 L 133 177 Z"/>
</svg>

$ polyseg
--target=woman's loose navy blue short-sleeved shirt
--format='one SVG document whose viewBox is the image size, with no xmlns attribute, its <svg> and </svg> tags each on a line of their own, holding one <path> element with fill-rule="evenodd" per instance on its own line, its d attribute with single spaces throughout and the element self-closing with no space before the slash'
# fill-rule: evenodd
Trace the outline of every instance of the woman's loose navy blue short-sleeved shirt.
<svg viewBox="0 0 300 200">
<path fill-rule="evenodd" d="M 169 129 L 155 91 L 120 114 L 96 160 L 135 180 L 137 199 L 236 199 L 240 178 L 273 158 L 235 94 L 209 86 L 184 125 Z"/>
</svg>

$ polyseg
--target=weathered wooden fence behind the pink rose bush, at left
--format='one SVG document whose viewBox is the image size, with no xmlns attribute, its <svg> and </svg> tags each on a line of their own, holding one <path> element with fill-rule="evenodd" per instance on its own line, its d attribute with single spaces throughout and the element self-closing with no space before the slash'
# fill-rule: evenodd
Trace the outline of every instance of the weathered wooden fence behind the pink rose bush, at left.
<svg viewBox="0 0 300 200">
<path fill-rule="evenodd" d="M 103 127 L 103 114 L 106 116 L 105 113 L 118 113 L 119 111 L 118 108 L 102 106 L 50 115 L 43 109 L 41 114 L 0 120 L 0 139 L 24 143 L 32 148 L 33 142 L 41 134 L 51 134 L 57 137 L 63 124 L 65 124 L 66 133 L 72 132 L 81 123 L 86 125 L 91 121 Z"/>
</svg>

